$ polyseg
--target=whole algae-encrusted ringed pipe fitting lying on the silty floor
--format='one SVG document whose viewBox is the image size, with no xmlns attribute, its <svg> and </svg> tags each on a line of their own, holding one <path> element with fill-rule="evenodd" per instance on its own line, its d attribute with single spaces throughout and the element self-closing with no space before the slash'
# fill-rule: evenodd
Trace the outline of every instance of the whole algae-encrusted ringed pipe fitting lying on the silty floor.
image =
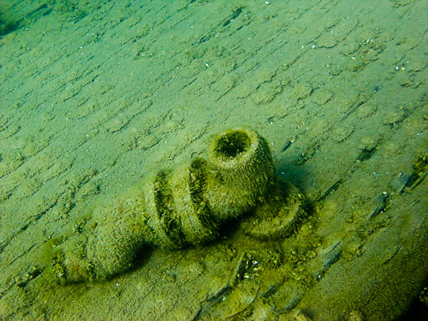
<svg viewBox="0 0 428 321">
<path fill-rule="evenodd" d="M 248 127 L 229 129 L 214 138 L 208 160 L 152 173 L 96 208 L 78 234 L 52 243 L 51 275 L 59 283 L 108 278 L 129 269 L 145 244 L 202 243 L 218 235 L 222 221 L 246 212 L 255 212 L 257 221 L 250 234 L 286 236 L 301 206 L 297 189 L 281 184 L 266 140 Z M 265 221 L 278 226 L 266 230 Z"/>
</svg>

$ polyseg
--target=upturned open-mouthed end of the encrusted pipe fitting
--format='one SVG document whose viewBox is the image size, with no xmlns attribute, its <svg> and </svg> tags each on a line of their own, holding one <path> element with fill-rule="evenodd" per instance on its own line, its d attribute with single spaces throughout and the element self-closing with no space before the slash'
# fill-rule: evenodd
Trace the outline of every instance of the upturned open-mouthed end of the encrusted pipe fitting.
<svg viewBox="0 0 428 321">
<path fill-rule="evenodd" d="M 239 217 L 263 203 L 275 184 L 268 143 L 248 127 L 217 135 L 208 149 L 207 198 L 220 219 Z"/>
</svg>

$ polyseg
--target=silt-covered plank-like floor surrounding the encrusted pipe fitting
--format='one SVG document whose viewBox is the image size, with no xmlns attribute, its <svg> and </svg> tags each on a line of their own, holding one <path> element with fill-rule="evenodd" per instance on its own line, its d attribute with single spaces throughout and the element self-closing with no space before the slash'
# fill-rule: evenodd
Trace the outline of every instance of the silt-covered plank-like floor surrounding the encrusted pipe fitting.
<svg viewBox="0 0 428 321">
<path fill-rule="evenodd" d="M 422 0 L 1 5 L 1 318 L 399 316 L 428 275 L 427 10 Z M 94 203 L 242 124 L 307 197 L 294 235 L 259 241 L 235 222 L 206 246 L 147 250 L 111 280 L 38 281 L 44 244 Z"/>
</svg>

